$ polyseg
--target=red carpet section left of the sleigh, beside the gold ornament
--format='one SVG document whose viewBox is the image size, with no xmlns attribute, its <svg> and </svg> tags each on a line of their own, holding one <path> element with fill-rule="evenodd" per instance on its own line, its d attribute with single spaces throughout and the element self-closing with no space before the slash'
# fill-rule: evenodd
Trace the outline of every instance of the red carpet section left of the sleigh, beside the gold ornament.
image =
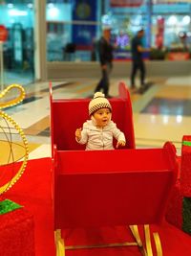
<svg viewBox="0 0 191 256">
<path fill-rule="evenodd" d="M 54 255 L 51 158 L 30 160 L 27 170 L 4 198 L 9 198 L 34 217 L 35 256 Z"/>
</svg>

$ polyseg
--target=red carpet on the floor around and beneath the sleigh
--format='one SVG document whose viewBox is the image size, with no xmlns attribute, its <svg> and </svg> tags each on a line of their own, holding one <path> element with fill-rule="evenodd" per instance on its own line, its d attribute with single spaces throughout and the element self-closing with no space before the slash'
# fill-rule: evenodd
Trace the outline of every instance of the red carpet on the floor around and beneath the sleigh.
<svg viewBox="0 0 191 256">
<path fill-rule="evenodd" d="M 51 193 L 51 159 L 30 160 L 21 179 L 5 194 L 5 198 L 24 205 L 32 213 L 35 225 L 35 255 L 54 256 L 53 210 Z M 163 248 L 163 256 L 190 256 L 191 237 L 174 226 L 164 223 L 152 225 L 152 232 L 158 231 Z M 126 227 L 107 227 L 99 230 L 66 230 L 63 237 L 69 244 L 105 244 L 130 242 L 133 238 Z M 140 227 L 143 237 L 142 227 Z M 156 251 L 153 237 L 152 244 Z M 137 256 L 137 247 L 98 248 L 67 250 L 66 256 Z M 154 254 L 156 255 L 156 254 Z"/>
</svg>

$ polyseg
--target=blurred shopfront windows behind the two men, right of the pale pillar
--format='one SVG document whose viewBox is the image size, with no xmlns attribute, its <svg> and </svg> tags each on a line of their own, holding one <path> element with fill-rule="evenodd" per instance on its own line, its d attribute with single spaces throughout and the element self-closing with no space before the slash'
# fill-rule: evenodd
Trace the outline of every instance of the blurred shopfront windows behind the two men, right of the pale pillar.
<svg viewBox="0 0 191 256">
<path fill-rule="evenodd" d="M 152 47 L 151 59 L 190 58 L 191 3 L 162 0 L 52 1 L 47 5 L 48 60 L 65 61 L 73 43 L 72 61 L 90 61 L 102 26 L 112 28 L 117 60 L 131 59 L 130 42 L 139 28 L 145 28 L 144 44 Z M 61 3 L 62 2 L 62 3 Z M 104 2 L 104 3 L 103 3 Z M 183 35 L 183 37 L 182 37 Z M 170 54 L 169 54 L 170 53 Z M 70 55 L 70 52 L 68 52 Z M 145 54 L 145 58 L 150 58 Z"/>
</svg>

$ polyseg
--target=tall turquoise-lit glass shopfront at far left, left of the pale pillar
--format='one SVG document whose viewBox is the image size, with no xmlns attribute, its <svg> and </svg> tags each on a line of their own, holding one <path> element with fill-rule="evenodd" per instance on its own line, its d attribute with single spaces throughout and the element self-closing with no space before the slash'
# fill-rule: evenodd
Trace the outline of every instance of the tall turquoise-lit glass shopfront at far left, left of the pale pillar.
<svg viewBox="0 0 191 256">
<path fill-rule="evenodd" d="M 33 81 L 33 1 L 1 1 L 0 24 L 8 30 L 3 43 L 6 84 Z"/>
</svg>

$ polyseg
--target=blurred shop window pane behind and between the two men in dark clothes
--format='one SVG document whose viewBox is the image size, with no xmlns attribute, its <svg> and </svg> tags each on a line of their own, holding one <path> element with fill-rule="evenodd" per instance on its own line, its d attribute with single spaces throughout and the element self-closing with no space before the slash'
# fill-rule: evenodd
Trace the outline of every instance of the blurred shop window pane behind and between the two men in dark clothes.
<svg viewBox="0 0 191 256">
<path fill-rule="evenodd" d="M 131 58 L 131 40 L 139 29 L 144 28 L 144 46 L 150 45 L 150 20 L 147 1 L 111 0 L 108 13 L 102 17 L 102 23 L 111 23 L 113 42 L 117 48 L 116 60 Z"/>
</svg>

